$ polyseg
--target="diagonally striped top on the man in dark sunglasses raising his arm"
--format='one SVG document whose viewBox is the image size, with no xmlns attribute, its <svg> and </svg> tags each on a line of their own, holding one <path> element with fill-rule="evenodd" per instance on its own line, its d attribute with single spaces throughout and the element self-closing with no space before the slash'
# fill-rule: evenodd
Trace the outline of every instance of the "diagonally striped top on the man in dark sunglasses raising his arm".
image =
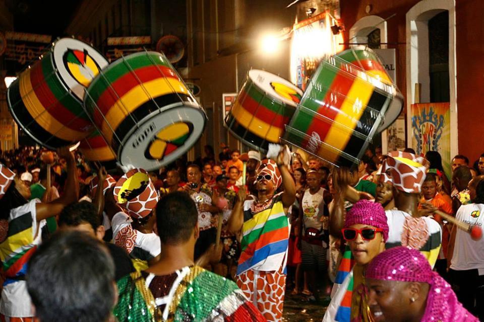
<svg viewBox="0 0 484 322">
<path fill-rule="evenodd" d="M 237 275 L 250 269 L 278 271 L 284 266 L 289 245 L 289 222 L 281 197 L 282 193 L 275 195 L 266 209 L 255 214 L 251 211 L 255 200 L 244 202 L 243 236 Z M 285 272 L 285 267 L 282 271 Z"/>
</svg>

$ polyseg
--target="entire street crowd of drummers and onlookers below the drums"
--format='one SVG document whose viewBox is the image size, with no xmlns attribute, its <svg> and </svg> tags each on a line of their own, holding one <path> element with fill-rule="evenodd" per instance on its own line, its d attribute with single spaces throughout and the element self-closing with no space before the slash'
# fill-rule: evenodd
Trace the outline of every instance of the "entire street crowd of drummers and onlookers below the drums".
<svg viewBox="0 0 484 322">
<path fill-rule="evenodd" d="M 281 321 L 286 292 L 330 297 L 323 321 L 484 320 L 484 240 L 447 216 L 482 227 L 484 154 L 451 165 L 206 146 L 108 174 L 68 148 L 2 151 L 0 321 Z"/>
</svg>

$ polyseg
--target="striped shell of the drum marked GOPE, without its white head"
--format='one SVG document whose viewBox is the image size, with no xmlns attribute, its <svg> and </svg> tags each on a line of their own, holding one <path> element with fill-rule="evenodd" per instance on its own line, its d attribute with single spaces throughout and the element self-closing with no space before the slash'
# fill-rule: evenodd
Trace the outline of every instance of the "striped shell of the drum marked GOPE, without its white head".
<svg viewBox="0 0 484 322">
<path fill-rule="evenodd" d="M 184 102 L 194 101 L 169 62 L 159 53 L 142 52 L 105 68 L 89 86 L 85 107 L 117 151 L 142 119 L 160 107 Z"/>
</svg>

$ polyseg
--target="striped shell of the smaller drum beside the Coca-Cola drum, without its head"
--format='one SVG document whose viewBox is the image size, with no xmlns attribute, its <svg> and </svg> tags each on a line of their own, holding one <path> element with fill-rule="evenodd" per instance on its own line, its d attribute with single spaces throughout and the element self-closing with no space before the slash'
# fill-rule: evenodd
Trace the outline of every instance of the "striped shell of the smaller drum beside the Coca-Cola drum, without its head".
<svg viewBox="0 0 484 322">
<path fill-rule="evenodd" d="M 279 142 L 294 111 L 280 99 L 271 99 L 248 78 L 225 122 L 238 138 L 256 149 L 267 150 L 269 143 Z"/>
</svg>

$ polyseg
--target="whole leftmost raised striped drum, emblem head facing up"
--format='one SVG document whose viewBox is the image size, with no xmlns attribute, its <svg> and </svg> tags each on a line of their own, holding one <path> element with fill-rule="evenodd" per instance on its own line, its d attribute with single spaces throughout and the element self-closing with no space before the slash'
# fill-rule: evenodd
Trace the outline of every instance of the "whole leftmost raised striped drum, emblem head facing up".
<svg viewBox="0 0 484 322">
<path fill-rule="evenodd" d="M 47 148 L 77 143 L 94 129 L 82 106 L 85 88 L 107 64 L 98 51 L 82 41 L 56 41 L 9 87 L 12 116 Z"/>
</svg>

